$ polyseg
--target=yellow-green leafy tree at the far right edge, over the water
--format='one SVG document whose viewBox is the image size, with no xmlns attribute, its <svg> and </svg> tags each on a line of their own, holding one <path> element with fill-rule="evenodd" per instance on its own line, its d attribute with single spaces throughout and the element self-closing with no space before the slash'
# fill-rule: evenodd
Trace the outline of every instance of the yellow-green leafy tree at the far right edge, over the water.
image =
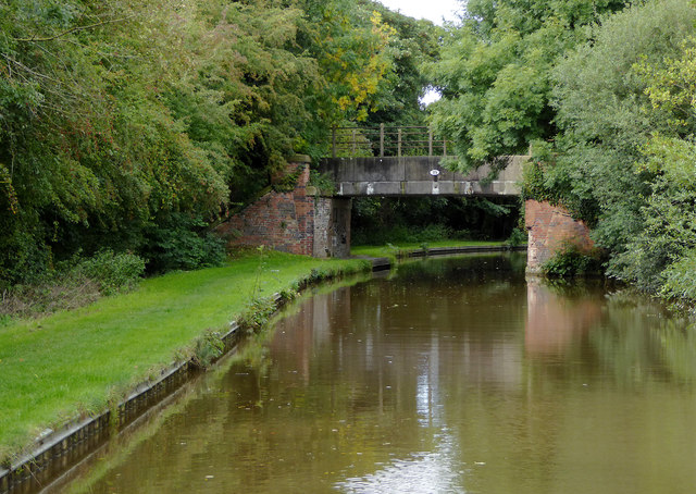
<svg viewBox="0 0 696 494">
<path fill-rule="evenodd" d="M 620 256 L 622 275 L 638 286 L 674 299 L 696 300 L 696 48 L 689 36 L 679 57 L 660 64 L 643 60 L 637 73 L 647 84 L 644 110 L 664 122 L 643 146 L 637 164 L 655 175 L 641 209 L 643 231 Z"/>
</svg>

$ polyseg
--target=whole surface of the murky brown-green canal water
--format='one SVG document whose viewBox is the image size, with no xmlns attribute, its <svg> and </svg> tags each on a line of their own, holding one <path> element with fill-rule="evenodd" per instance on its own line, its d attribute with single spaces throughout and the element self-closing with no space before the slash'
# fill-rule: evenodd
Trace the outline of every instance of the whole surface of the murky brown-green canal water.
<svg viewBox="0 0 696 494">
<path fill-rule="evenodd" d="M 90 493 L 696 492 L 696 337 L 524 255 L 304 297 L 65 487 Z"/>
</svg>

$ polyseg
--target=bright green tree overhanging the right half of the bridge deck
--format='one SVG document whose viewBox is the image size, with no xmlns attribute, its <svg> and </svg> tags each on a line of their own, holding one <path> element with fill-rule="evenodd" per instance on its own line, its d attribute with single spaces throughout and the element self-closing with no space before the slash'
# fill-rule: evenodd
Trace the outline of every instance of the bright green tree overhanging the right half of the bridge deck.
<svg viewBox="0 0 696 494">
<path fill-rule="evenodd" d="M 587 39 L 585 26 L 618 0 L 471 0 L 444 39 L 430 76 L 443 94 L 432 121 L 455 143 L 459 165 L 526 152 L 556 134 L 551 70 Z"/>
</svg>

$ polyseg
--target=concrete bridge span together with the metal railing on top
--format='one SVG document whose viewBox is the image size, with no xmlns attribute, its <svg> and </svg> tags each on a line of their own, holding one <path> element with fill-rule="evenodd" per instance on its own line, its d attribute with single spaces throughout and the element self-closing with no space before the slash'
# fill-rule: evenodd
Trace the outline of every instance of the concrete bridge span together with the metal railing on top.
<svg viewBox="0 0 696 494">
<path fill-rule="evenodd" d="M 520 195 L 529 157 L 498 158 L 495 175 L 489 164 L 462 174 L 442 166 L 447 147 L 427 127 L 337 128 L 332 158 L 323 159 L 319 171 L 334 181 L 337 197 Z"/>
</svg>

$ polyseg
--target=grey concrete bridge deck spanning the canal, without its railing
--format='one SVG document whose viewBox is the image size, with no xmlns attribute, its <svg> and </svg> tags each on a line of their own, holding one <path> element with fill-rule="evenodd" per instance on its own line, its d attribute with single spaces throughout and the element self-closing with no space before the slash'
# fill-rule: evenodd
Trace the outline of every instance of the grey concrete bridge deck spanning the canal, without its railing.
<svg viewBox="0 0 696 494">
<path fill-rule="evenodd" d="M 440 157 L 326 158 L 320 173 L 336 184 L 336 196 L 519 196 L 522 163 L 529 157 L 510 156 L 508 165 L 493 181 L 490 166 L 469 174 L 443 169 Z M 436 177 L 433 171 L 437 171 Z M 435 180 L 436 178 L 436 180 Z"/>
</svg>

